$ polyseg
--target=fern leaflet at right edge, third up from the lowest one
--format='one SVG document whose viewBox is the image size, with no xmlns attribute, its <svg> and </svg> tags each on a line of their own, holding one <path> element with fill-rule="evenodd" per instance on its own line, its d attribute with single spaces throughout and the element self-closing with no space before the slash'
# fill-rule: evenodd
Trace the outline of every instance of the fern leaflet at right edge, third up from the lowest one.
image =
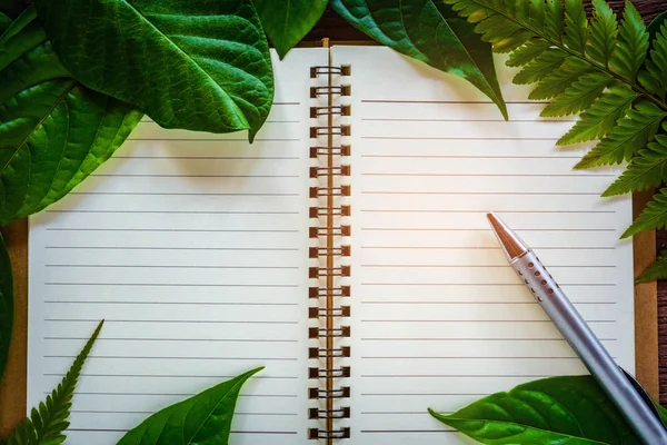
<svg viewBox="0 0 667 445">
<path fill-rule="evenodd" d="M 667 130 L 667 125 L 663 125 Z M 626 170 L 611 184 L 603 196 L 623 195 L 646 190 L 667 179 L 667 135 L 656 135 L 655 141 L 639 150 Z"/>
</svg>

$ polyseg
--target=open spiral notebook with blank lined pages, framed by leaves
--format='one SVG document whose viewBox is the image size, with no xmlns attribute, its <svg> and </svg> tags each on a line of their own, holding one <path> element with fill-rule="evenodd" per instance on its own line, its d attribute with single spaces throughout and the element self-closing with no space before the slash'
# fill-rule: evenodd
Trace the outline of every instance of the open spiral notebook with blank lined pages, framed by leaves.
<svg viewBox="0 0 667 445">
<path fill-rule="evenodd" d="M 380 47 L 276 59 L 253 145 L 142 121 L 30 220 L 29 405 L 104 318 L 72 445 L 115 444 L 260 365 L 231 443 L 470 443 L 426 408 L 585 373 L 487 210 L 634 369 L 631 245 L 618 241 L 630 200 L 598 197 L 614 171 L 571 170 L 581 150 L 555 147 L 571 121 L 539 119 L 497 65 L 509 122 L 464 80 Z"/>
</svg>

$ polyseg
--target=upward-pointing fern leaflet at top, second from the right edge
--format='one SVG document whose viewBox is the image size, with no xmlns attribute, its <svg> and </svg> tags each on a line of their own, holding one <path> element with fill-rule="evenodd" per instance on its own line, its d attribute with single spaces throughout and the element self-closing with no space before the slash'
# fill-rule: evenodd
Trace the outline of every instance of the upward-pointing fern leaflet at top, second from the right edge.
<svg viewBox="0 0 667 445">
<path fill-rule="evenodd" d="M 646 24 L 630 1 L 626 1 L 623 20 L 618 30 L 618 44 L 609 60 L 609 67 L 629 81 L 634 81 L 637 71 L 646 59 L 648 31 Z"/>
</svg>

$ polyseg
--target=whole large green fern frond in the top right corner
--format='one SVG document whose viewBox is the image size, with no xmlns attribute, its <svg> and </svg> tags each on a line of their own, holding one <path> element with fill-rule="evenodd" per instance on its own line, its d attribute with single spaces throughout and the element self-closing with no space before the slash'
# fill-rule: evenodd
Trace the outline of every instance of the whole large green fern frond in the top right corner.
<svg viewBox="0 0 667 445">
<path fill-rule="evenodd" d="M 550 101 L 541 116 L 581 113 L 558 144 L 599 141 L 576 168 L 629 161 L 604 196 L 666 179 L 667 16 L 647 28 L 630 1 L 620 23 L 604 0 L 593 1 L 590 21 L 581 0 L 565 0 L 565 8 L 560 0 L 445 2 L 476 23 L 495 51 L 512 50 L 507 65 L 520 68 L 514 81 L 537 83 L 530 99 Z M 624 236 L 663 227 L 665 220 L 667 191 L 656 195 Z"/>
</svg>

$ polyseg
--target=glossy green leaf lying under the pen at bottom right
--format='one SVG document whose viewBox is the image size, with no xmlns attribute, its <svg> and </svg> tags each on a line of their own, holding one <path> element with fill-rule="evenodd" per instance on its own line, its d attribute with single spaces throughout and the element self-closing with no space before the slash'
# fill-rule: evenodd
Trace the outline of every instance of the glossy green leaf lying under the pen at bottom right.
<svg viewBox="0 0 667 445">
<path fill-rule="evenodd" d="M 640 445 L 590 376 L 552 377 L 484 397 L 449 415 L 431 415 L 490 445 Z"/>
</svg>

